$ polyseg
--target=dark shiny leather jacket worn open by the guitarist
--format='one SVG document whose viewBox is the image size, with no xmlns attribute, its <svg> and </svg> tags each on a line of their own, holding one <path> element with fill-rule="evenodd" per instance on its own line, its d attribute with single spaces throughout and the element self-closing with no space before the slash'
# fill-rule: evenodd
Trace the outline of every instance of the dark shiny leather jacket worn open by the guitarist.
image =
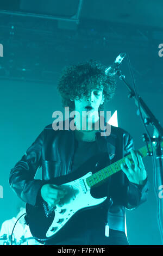
<svg viewBox="0 0 163 256">
<path fill-rule="evenodd" d="M 69 120 L 69 122 L 71 119 Z M 133 148 L 133 139 L 120 127 L 111 126 L 110 136 L 96 133 L 99 150 L 108 152 L 111 163 L 126 156 Z M 51 178 L 71 172 L 74 154 L 74 131 L 54 131 L 52 124 L 36 138 L 26 154 L 11 169 L 9 183 L 12 190 L 24 202 L 35 205 L 43 184 Z M 42 180 L 34 179 L 37 169 L 42 167 Z M 132 210 L 145 202 L 148 193 L 148 181 L 144 186 L 128 181 L 122 170 L 111 176 L 109 181 L 113 204 L 108 211 L 109 227 L 124 231 L 125 208 Z"/>
</svg>

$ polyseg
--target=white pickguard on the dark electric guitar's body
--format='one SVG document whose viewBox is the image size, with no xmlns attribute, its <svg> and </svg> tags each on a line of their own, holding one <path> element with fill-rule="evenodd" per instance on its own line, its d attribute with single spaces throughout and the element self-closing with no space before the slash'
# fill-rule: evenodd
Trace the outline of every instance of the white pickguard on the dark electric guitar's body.
<svg viewBox="0 0 163 256">
<path fill-rule="evenodd" d="M 91 188 L 87 186 L 85 181 L 91 175 L 92 172 L 89 172 L 82 176 L 82 178 L 62 185 L 62 187 L 67 189 L 68 194 L 65 196 L 63 203 L 56 205 L 56 209 L 54 210 L 55 217 L 46 233 L 46 237 L 56 234 L 77 211 L 101 204 L 107 198 L 93 198 L 91 196 Z"/>
</svg>

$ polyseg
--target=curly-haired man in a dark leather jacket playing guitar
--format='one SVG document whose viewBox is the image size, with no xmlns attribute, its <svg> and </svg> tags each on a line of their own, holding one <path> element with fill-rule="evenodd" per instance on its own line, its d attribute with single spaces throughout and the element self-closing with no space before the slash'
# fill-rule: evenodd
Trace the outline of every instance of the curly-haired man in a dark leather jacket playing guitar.
<svg viewBox="0 0 163 256">
<path fill-rule="evenodd" d="M 119 127 L 111 126 L 110 134 L 101 136 L 101 128 L 96 129 L 103 120 L 99 120 L 100 111 L 104 110 L 104 103 L 114 96 L 116 88 L 114 78 L 106 76 L 104 70 L 105 67 L 101 63 L 93 60 L 68 66 L 64 70 L 58 83 L 58 90 L 63 106 L 68 106 L 70 111 L 77 113 L 74 118 L 68 120 L 69 125 L 74 122 L 76 129 L 71 129 L 71 125 L 68 130 L 65 126 L 62 126 L 61 130 L 54 130 L 53 125 L 46 126 L 22 159 L 11 169 L 9 182 L 18 197 L 29 207 L 32 206 L 34 211 L 43 203 L 44 209 L 46 211 L 50 209 L 49 215 L 51 215 L 56 208 L 59 209 L 58 207 L 60 214 L 71 211 L 70 205 L 75 201 L 78 205 L 77 209 L 79 204 L 84 204 L 84 200 L 81 199 L 79 202 L 77 199 L 80 189 L 76 189 L 75 186 L 72 186 L 74 193 L 74 198 L 71 197 L 72 204 L 68 204 L 68 201 L 66 203 L 69 191 L 61 184 L 77 180 L 91 168 L 95 168 L 96 171 L 103 168 L 99 179 L 106 180 L 106 166 L 109 164 L 112 166 L 110 172 L 114 175 L 108 174 L 111 176 L 104 185 L 92 187 L 89 192 L 89 196 L 91 193 L 94 198 L 107 197 L 105 203 L 99 205 L 96 203 L 96 207 L 76 211 L 77 214 L 72 210 L 74 217 L 71 217 L 73 221 L 69 225 L 66 224 L 68 222 L 65 217 L 59 218 L 57 223 L 60 222 L 60 226 L 55 223 L 54 227 L 52 221 L 49 223 L 47 221 L 52 220 L 54 216 L 49 219 L 46 216 L 45 222 L 51 228 L 45 230 L 42 228 L 36 233 L 36 227 L 30 229 L 36 238 L 40 233 L 45 233 L 45 237 L 42 235 L 44 239 L 42 237 L 41 239 L 46 245 L 128 245 L 124 230 L 125 209 L 135 209 L 147 198 L 147 172 L 140 151 L 133 149 L 133 139 L 129 133 Z M 82 126 L 83 121 L 85 127 Z M 105 128 L 108 127 L 107 125 Z M 129 153 L 130 159 L 126 157 Z M 118 162 L 121 159 L 125 162 Z M 116 161 L 119 163 L 117 169 L 116 164 L 114 165 Z M 82 174 L 82 169 L 86 169 L 86 166 L 87 172 Z M 40 167 L 42 167 L 42 180 L 35 180 L 35 173 Z M 77 173 L 81 173 L 80 177 L 75 176 Z M 57 183 L 59 177 L 62 178 L 62 182 Z M 94 182 L 98 182 L 97 180 Z M 86 190 L 83 195 L 88 193 L 87 184 L 84 185 Z M 75 192 L 76 190 L 78 193 Z M 65 209 L 64 204 L 67 205 Z M 57 211 L 55 215 L 57 216 Z M 66 215 L 67 218 L 68 215 L 70 213 Z M 38 217 L 39 221 L 36 221 L 38 227 L 44 225 L 41 218 L 42 215 Z M 36 219 L 37 217 L 28 222 L 27 213 L 29 227 L 35 225 Z M 63 231 L 55 240 L 52 233 L 57 228 Z M 48 236 L 52 239 L 46 240 Z"/>
</svg>

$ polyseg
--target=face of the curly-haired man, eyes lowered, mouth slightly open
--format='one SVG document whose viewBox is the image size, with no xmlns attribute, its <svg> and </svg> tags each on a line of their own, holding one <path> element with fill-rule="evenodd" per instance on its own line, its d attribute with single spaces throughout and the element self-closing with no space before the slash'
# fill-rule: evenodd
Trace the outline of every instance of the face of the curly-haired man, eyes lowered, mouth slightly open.
<svg viewBox="0 0 163 256">
<path fill-rule="evenodd" d="M 87 115 L 92 118 L 92 115 L 98 112 L 98 108 L 104 102 L 103 89 L 95 88 L 87 96 L 82 99 L 74 100 L 75 110 L 80 113 L 81 117 Z"/>
</svg>

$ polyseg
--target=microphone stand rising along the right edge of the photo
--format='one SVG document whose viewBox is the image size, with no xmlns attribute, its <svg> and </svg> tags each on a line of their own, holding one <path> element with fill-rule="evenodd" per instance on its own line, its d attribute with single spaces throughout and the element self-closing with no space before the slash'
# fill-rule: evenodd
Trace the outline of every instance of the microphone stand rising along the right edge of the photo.
<svg viewBox="0 0 163 256">
<path fill-rule="evenodd" d="M 119 67 L 117 67 L 116 74 L 118 75 L 120 80 L 126 84 L 127 89 L 129 90 L 128 97 L 131 99 L 134 99 L 136 106 L 139 107 L 138 110 L 139 110 L 139 114 L 142 115 L 143 123 L 146 126 L 147 125 L 153 126 L 153 129 L 154 129 L 153 135 L 154 136 L 153 137 L 149 136 L 149 138 L 148 138 L 147 134 L 144 133 L 142 135 L 142 137 L 143 137 L 143 141 L 145 141 L 147 144 L 148 156 L 152 156 L 153 162 L 156 163 L 156 168 L 154 170 L 155 175 L 156 175 L 155 176 L 155 184 L 157 183 L 157 185 L 158 185 L 157 187 L 159 188 L 159 190 L 161 190 L 161 188 L 163 188 L 163 167 L 162 167 L 163 129 L 162 129 L 162 126 L 160 125 L 160 122 L 155 118 L 153 113 L 150 111 L 150 109 L 147 107 L 146 103 L 142 100 L 142 98 L 139 95 L 135 94 L 134 90 L 131 88 L 129 83 L 126 81 L 125 76 L 122 75 L 122 71 L 119 69 Z M 153 153 L 152 153 L 152 151 L 149 150 L 150 146 L 148 144 L 148 141 L 153 142 L 153 143 L 151 143 L 151 150 L 154 147 L 155 152 L 153 151 Z M 161 235 L 161 240 L 162 240 L 162 244 L 163 244 L 163 226 L 162 226 L 162 222 L 161 222 L 161 219 L 163 218 L 163 199 L 162 199 L 163 193 L 161 195 L 160 194 L 161 191 L 158 192 L 157 188 L 155 188 L 155 190 L 156 190 L 155 191 L 156 199 L 158 200 L 158 224 L 159 224 L 160 235 Z M 162 192 L 163 192 L 163 190 L 162 190 Z"/>
</svg>

